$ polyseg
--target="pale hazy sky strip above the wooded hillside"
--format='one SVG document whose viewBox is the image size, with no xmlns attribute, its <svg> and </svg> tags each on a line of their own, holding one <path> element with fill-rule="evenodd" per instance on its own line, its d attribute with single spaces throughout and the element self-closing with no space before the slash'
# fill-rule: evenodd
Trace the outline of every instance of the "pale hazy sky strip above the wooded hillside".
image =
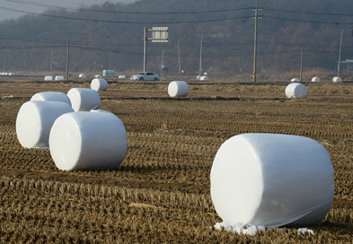
<svg viewBox="0 0 353 244">
<path fill-rule="evenodd" d="M 30 4 L 49 4 L 55 6 L 73 7 L 78 8 L 80 4 L 92 5 L 92 4 L 104 4 L 107 0 L 0 0 L 0 21 L 8 18 L 18 18 L 23 16 L 25 13 L 18 13 L 15 11 L 6 10 L 4 8 L 12 8 L 18 11 L 29 11 L 33 13 L 42 13 L 47 7 L 36 6 Z M 111 0 L 110 2 L 125 2 L 131 3 L 136 0 Z M 28 4 L 23 4 L 28 3 Z"/>
</svg>

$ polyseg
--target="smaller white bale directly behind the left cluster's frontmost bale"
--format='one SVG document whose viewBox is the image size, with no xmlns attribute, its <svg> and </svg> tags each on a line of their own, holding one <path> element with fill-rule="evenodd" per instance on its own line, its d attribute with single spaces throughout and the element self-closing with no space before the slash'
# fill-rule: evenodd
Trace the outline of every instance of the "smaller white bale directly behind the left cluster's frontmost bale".
<svg viewBox="0 0 353 244">
<path fill-rule="evenodd" d="M 67 93 L 74 111 L 90 111 L 100 108 L 100 94 L 88 88 L 72 88 Z"/>
</svg>

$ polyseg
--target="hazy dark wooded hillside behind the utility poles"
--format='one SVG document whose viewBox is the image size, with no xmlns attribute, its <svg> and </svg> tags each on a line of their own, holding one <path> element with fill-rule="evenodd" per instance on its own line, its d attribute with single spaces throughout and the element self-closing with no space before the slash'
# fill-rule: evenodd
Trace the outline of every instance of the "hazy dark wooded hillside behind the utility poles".
<svg viewBox="0 0 353 244">
<path fill-rule="evenodd" d="M 258 73 L 299 69 L 301 47 L 304 68 L 333 70 L 342 29 L 342 60 L 352 57 L 352 5 L 348 0 L 259 1 Z M 249 73 L 254 7 L 255 1 L 245 0 L 140 0 L 51 8 L 0 23 L 0 69 L 65 71 L 69 42 L 71 72 L 142 71 L 144 28 L 166 26 L 169 42 L 148 41 L 149 71 L 164 64 L 170 73 L 179 68 L 198 73 L 200 66 L 208 73 Z"/>
</svg>

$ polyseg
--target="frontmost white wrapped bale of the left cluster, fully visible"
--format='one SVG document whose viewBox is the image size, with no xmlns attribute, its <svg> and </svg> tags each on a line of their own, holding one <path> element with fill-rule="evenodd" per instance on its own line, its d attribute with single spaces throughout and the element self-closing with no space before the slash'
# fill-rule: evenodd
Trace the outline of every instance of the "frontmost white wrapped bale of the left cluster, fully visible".
<svg viewBox="0 0 353 244">
<path fill-rule="evenodd" d="M 126 157 L 127 135 L 110 112 L 77 112 L 56 119 L 49 147 L 61 170 L 118 169 Z"/>
</svg>

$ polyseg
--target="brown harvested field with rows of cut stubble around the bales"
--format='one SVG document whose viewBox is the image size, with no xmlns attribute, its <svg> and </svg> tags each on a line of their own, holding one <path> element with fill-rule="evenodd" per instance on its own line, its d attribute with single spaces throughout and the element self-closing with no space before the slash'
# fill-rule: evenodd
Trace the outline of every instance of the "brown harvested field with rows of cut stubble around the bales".
<svg viewBox="0 0 353 244">
<path fill-rule="evenodd" d="M 101 109 L 124 122 L 128 154 L 116 171 L 60 171 L 49 150 L 16 136 L 20 106 L 33 94 L 90 87 L 88 80 L 3 80 L 0 96 L 0 243 L 353 243 L 353 85 L 306 83 L 306 99 L 287 99 L 288 83 L 190 81 L 185 98 L 167 82 L 112 82 Z M 228 138 L 282 133 L 318 140 L 335 169 L 335 200 L 310 227 L 244 236 L 215 231 L 210 169 Z M 302 226 L 305 227 L 305 226 Z"/>
</svg>

